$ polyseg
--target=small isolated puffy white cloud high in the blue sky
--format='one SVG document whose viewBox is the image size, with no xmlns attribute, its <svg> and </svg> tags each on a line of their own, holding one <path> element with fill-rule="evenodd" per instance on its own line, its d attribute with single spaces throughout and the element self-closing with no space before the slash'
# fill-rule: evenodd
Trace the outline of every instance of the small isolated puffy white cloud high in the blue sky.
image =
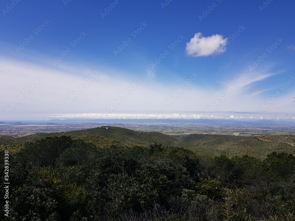
<svg viewBox="0 0 295 221">
<path fill-rule="evenodd" d="M 190 42 L 186 43 L 186 54 L 192 57 L 212 55 L 215 51 L 220 53 L 226 50 L 227 38 L 215 34 L 211 37 L 202 37 L 202 33 L 196 33 Z"/>
</svg>

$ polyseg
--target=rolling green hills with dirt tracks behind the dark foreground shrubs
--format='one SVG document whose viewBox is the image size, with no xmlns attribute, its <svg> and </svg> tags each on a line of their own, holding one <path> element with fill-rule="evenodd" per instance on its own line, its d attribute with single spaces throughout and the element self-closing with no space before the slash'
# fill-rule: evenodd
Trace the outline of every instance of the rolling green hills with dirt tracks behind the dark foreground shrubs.
<svg viewBox="0 0 295 221">
<path fill-rule="evenodd" d="M 0 145 L 2 146 L 1 149 L 18 151 L 25 142 L 56 136 L 72 136 L 73 138 L 94 143 L 99 147 L 121 144 L 125 146 L 148 146 L 161 143 L 163 146 L 184 147 L 200 155 L 209 156 L 248 154 L 264 158 L 273 151 L 295 154 L 295 136 L 245 137 L 214 134 L 171 136 L 158 132 L 138 132 L 110 126 L 61 133 L 37 133 L 18 138 L 1 136 Z"/>
</svg>

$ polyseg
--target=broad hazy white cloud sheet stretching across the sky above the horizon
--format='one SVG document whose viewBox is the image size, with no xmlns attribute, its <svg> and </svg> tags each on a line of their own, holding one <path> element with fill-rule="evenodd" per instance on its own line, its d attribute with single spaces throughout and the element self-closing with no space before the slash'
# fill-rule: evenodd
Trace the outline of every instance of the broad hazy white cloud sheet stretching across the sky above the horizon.
<svg viewBox="0 0 295 221">
<path fill-rule="evenodd" d="M 2 61 L 1 61 L 2 60 Z M 271 96 L 252 96 L 249 97 L 247 89 L 256 86 L 253 84 L 271 77 L 273 74 L 268 72 L 255 73 L 242 72 L 236 74 L 234 79 L 216 82 L 212 79 L 212 84 L 200 86 L 200 79 L 184 88 L 182 83 L 187 78 L 173 79 L 163 83 L 153 80 L 151 84 L 147 80 L 138 76 L 126 77 L 119 71 L 104 71 L 98 65 L 101 73 L 95 77 L 89 85 L 85 85 L 84 80 L 91 76 L 93 69 L 86 66 L 71 65 L 71 68 L 52 68 L 45 65 L 37 65 L 19 60 L 1 59 L 1 80 L 0 80 L 0 117 L 35 117 L 35 116 L 58 116 L 73 113 L 104 113 L 108 106 L 115 105 L 118 98 L 122 99 L 116 108 L 111 112 L 115 113 L 184 113 L 196 112 L 205 113 L 206 108 L 220 100 L 220 95 L 228 90 L 229 85 L 235 87 L 214 111 L 238 111 L 238 112 L 260 112 L 262 104 Z M 150 77 L 153 72 L 147 72 Z M 120 76 L 124 76 L 120 77 Z M 27 95 L 24 96 L 13 110 L 6 113 L 6 107 L 13 103 L 20 95 L 24 95 L 22 90 L 32 84 L 37 79 L 40 83 Z M 171 82 L 170 82 L 171 81 Z M 124 90 L 130 87 L 131 83 L 137 84 L 131 93 L 123 97 Z M 284 82 L 284 81 L 283 81 Z M 282 83 L 283 83 L 282 82 Z M 280 83 L 281 84 L 281 83 Z M 67 103 L 67 98 L 73 94 L 81 85 L 85 86 L 83 92 Z M 178 89 L 181 93 L 177 93 Z M 288 91 L 291 90 L 288 88 Z M 172 103 L 165 106 L 164 101 L 171 99 L 171 96 L 178 94 Z M 288 98 L 294 97 L 294 90 L 289 93 L 282 93 L 276 102 L 273 102 L 267 110 L 268 112 L 292 113 L 294 102 L 285 102 L 284 95 Z M 292 104 L 292 105 L 291 105 Z M 294 111 L 293 111 L 294 112 Z M 201 116 L 198 114 L 196 116 Z M 230 115 L 229 115 L 230 116 Z M 115 117 L 115 116 L 114 116 Z M 137 116 L 136 116 L 137 117 Z M 140 117 L 140 116 L 138 116 Z M 248 117 L 248 116 L 246 116 Z M 258 116 L 255 116 L 258 117 Z M 259 116 L 260 117 L 260 116 Z M 166 118 L 166 116 L 164 116 Z M 197 117 L 198 118 L 198 117 Z M 205 116 L 205 118 L 207 118 Z M 214 116 L 214 119 L 216 116 Z"/>
</svg>

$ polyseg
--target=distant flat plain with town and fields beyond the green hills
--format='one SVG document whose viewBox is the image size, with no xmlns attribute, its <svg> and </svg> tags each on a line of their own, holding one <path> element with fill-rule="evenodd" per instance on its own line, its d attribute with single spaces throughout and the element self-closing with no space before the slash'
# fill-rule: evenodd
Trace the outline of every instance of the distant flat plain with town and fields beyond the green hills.
<svg viewBox="0 0 295 221">
<path fill-rule="evenodd" d="M 35 133 L 66 132 L 101 126 L 117 126 L 135 131 L 160 132 L 167 135 L 191 133 L 233 136 L 295 135 L 295 126 L 256 126 L 228 123 L 5 123 L 0 122 L 0 136 L 27 136 Z"/>
</svg>

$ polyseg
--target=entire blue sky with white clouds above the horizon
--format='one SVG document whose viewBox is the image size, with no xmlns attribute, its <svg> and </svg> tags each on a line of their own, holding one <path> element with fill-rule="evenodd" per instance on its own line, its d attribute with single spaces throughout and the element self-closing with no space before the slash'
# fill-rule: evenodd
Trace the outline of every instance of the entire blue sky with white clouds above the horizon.
<svg viewBox="0 0 295 221">
<path fill-rule="evenodd" d="M 4 0 L 0 120 L 294 120 L 294 8 Z"/>
</svg>

